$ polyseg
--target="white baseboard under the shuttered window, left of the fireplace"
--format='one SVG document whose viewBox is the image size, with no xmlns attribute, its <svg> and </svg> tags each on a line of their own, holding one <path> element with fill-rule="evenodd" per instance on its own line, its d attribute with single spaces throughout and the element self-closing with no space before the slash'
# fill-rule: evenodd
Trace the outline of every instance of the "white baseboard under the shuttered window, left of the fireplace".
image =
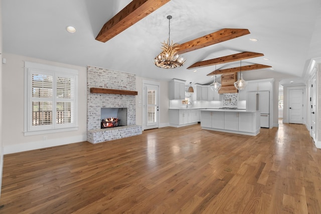
<svg viewBox="0 0 321 214">
<path fill-rule="evenodd" d="M 70 143 L 83 142 L 86 140 L 87 140 L 87 135 L 78 135 L 78 136 L 72 136 L 72 137 L 47 139 L 42 141 L 20 143 L 20 144 L 14 144 L 14 145 L 5 145 L 4 154 L 12 154 L 12 153 L 30 151 L 35 149 L 48 148 L 52 146 L 66 145 Z"/>
</svg>

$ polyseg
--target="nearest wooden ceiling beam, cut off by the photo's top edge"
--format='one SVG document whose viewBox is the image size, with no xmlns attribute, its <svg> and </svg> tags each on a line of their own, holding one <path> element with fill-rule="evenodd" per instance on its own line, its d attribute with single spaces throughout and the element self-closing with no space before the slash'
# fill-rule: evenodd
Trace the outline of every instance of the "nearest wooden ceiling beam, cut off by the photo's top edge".
<svg viewBox="0 0 321 214">
<path fill-rule="evenodd" d="M 171 0 L 133 0 L 105 23 L 97 35 L 96 40 L 107 42 L 170 1 Z"/>
</svg>

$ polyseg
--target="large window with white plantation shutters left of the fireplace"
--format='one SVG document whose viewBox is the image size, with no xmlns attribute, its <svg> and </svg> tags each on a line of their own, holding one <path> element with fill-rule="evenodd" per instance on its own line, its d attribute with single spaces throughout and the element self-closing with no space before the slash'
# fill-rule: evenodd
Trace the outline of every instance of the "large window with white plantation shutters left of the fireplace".
<svg viewBox="0 0 321 214">
<path fill-rule="evenodd" d="M 25 72 L 25 135 L 76 130 L 78 71 L 25 62 Z"/>
</svg>

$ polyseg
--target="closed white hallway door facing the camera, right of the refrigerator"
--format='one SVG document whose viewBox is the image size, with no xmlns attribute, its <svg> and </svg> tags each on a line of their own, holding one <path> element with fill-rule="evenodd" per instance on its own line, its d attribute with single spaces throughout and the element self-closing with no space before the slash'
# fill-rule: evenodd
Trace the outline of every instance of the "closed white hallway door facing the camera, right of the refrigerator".
<svg viewBox="0 0 321 214">
<path fill-rule="evenodd" d="M 303 123 L 303 89 L 289 90 L 289 123 Z"/>
</svg>

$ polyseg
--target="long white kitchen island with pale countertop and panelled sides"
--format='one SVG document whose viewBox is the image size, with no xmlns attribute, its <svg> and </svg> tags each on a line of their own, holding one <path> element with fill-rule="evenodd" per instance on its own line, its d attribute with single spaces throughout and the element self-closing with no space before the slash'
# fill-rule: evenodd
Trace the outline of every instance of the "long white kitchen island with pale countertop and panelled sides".
<svg viewBox="0 0 321 214">
<path fill-rule="evenodd" d="M 255 136 L 260 133 L 260 112 L 245 109 L 200 109 L 202 129 Z"/>
</svg>

